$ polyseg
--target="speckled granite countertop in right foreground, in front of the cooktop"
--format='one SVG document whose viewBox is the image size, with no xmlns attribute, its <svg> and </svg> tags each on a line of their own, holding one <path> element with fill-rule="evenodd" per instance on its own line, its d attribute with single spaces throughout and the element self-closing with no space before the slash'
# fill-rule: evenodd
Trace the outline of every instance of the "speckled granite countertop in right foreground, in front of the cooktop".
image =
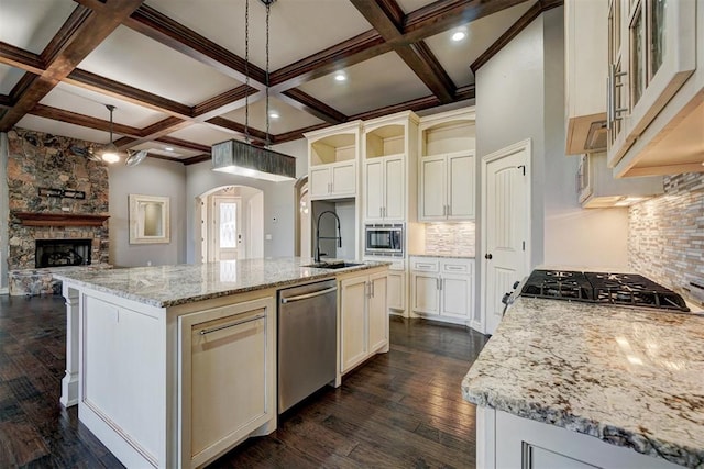
<svg viewBox="0 0 704 469">
<path fill-rule="evenodd" d="M 704 467 L 704 317 L 519 297 L 464 399 Z"/>
</svg>

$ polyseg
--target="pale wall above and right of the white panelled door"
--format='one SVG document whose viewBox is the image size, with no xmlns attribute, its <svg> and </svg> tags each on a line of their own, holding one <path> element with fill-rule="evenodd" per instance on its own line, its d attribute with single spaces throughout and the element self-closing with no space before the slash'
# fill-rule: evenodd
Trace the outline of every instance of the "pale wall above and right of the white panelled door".
<svg viewBox="0 0 704 469">
<path fill-rule="evenodd" d="M 532 266 L 625 266 L 627 211 L 583 210 L 576 201 L 578 161 L 564 155 L 563 32 L 563 9 L 549 10 L 477 70 L 477 163 L 531 139 Z"/>
</svg>

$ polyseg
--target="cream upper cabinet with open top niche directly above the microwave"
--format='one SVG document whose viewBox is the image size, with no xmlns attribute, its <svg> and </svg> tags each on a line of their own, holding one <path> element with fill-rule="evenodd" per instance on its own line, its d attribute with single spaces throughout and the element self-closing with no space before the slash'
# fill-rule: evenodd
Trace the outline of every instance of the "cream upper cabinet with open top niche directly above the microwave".
<svg viewBox="0 0 704 469">
<path fill-rule="evenodd" d="M 364 221 L 403 223 L 415 215 L 418 116 L 366 121 L 362 137 Z"/>
</svg>

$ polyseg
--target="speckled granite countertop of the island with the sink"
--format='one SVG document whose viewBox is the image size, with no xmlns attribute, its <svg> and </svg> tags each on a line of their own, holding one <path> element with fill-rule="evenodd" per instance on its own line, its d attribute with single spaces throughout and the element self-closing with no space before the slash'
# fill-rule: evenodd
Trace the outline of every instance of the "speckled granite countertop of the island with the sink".
<svg viewBox="0 0 704 469">
<path fill-rule="evenodd" d="M 389 265 L 365 261 L 344 269 L 302 267 L 311 263 L 311 259 L 299 257 L 241 259 L 109 270 L 73 270 L 54 272 L 54 277 L 140 303 L 168 308 Z"/>
</svg>

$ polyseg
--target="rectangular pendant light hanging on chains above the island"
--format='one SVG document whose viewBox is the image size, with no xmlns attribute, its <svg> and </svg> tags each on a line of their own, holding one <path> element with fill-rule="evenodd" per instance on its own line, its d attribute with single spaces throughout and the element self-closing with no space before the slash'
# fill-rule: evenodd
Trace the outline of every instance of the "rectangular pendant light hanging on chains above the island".
<svg viewBox="0 0 704 469">
<path fill-rule="evenodd" d="M 268 113 L 268 40 L 271 5 L 276 0 L 261 0 L 266 7 L 266 144 L 264 147 L 254 146 L 250 142 L 250 0 L 245 1 L 244 10 L 244 142 L 227 141 L 212 146 L 212 169 L 270 181 L 286 181 L 296 178 L 296 158 L 274 152 L 270 148 L 270 113 Z"/>
</svg>

